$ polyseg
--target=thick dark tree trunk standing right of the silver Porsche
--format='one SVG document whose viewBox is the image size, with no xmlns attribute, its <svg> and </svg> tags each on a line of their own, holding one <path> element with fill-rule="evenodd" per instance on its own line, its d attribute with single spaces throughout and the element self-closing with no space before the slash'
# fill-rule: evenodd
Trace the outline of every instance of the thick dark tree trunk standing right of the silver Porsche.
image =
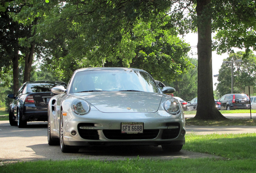
<svg viewBox="0 0 256 173">
<path fill-rule="evenodd" d="M 226 119 L 216 108 L 213 95 L 211 0 L 197 0 L 198 88 L 195 119 Z"/>
</svg>

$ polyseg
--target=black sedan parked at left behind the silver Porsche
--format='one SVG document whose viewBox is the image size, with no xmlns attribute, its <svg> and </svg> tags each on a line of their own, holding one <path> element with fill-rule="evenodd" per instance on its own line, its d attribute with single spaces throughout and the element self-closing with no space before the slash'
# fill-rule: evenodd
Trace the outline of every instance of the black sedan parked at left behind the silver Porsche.
<svg viewBox="0 0 256 173">
<path fill-rule="evenodd" d="M 16 95 L 9 94 L 14 99 L 10 104 L 10 125 L 24 127 L 28 121 L 47 121 L 48 102 L 54 93 L 51 89 L 56 86 L 66 87 L 65 82 L 34 81 L 25 82 Z"/>
</svg>

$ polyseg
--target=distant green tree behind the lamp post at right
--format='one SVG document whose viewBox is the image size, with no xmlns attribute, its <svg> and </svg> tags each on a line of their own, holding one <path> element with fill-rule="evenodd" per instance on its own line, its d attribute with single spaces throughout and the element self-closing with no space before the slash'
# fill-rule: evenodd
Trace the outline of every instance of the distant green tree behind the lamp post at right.
<svg viewBox="0 0 256 173">
<path fill-rule="evenodd" d="M 233 63 L 233 93 L 244 93 L 246 86 L 256 87 L 256 56 L 250 52 L 229 54 L 227 61 L 242 59 L 241 63 Z M 218 76 L 217 90 L 221 95 L 231 93 L 231 64 L 222 64 Z M 253 93 L 252 93 L 253 94 Z"/>
</svg>

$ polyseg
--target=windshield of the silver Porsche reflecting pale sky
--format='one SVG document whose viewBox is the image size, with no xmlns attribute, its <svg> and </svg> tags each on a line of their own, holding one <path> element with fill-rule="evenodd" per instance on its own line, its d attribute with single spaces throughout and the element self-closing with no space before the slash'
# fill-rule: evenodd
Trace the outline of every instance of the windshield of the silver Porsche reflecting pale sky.
<svg viewBox="0 0 256 173">
<path fill-rule="evenodd" d="M 134 70 L 90 70 L 77 72 L 70 93 L 88 91 L 144 91 L 161 93 L 147 73 Z"/>
</svg>

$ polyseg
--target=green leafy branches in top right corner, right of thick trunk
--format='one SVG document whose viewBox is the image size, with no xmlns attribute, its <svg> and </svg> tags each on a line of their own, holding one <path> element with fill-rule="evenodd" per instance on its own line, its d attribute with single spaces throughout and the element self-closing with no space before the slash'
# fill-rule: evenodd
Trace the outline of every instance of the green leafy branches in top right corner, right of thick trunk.
<svg viewBox="0 0 256 173">
<path fill-rule="evenodd" d="M 214 49 L 219 53 L 233 48 L 256 50 L 256 2 L 254 0 L 213 0 Z"/>
</svg>

